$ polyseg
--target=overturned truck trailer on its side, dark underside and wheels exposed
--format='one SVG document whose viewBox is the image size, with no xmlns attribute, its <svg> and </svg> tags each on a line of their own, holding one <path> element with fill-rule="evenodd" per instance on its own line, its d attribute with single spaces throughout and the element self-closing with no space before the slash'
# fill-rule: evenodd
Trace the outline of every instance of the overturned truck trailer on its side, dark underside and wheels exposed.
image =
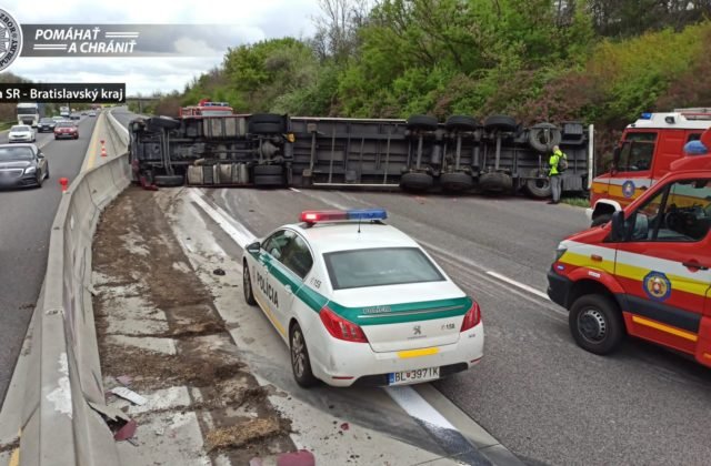
<svg viewBox="0 0 711 466">
<path fill-rule="evenodd" d="M 531 128 L 504 115 L 478 122 L 278 114 L 154 116 L 129 124 L 134 181 L 146 186 L 367 186 L 550 195 L 553 145 L 567 153 L 563 191 L 591 179 L 592 128 Z"/>
</svg>

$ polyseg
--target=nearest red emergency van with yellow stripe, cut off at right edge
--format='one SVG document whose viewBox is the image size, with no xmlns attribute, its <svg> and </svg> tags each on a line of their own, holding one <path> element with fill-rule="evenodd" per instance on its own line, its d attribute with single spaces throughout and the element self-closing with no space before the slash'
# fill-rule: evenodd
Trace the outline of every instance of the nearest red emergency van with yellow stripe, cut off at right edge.
<svg viewBox="0 0 711 466">
<path fill-rule="evenodd" d="M 700 142 L 711 149 L 711 131 Z M 632 335 L 711 366 L 711 154 L 669 166 L 611 222 L 560 243 L 548 295 L 589 352 L 608 354 Z"/>
</svg>

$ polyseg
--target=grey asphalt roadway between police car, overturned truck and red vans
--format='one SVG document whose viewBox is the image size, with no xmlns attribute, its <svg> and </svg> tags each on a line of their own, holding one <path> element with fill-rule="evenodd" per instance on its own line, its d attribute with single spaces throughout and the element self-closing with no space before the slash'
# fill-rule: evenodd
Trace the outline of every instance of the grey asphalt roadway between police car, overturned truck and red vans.
<svg viewBox="0 0 711 466">
<path fill-rule="evenodd" d="M 483 362 L 434 386 L 531 463 L 705 464 L 711 372 L 629 342 L 611 357 L 573 343 L 564 310 L 540 292 L 558 242 L 582 209 L 524 197 L 316 190 L 206 190 L 257 235 L 307 209 L 382 206 L 482 306 Z"/>
</svg>

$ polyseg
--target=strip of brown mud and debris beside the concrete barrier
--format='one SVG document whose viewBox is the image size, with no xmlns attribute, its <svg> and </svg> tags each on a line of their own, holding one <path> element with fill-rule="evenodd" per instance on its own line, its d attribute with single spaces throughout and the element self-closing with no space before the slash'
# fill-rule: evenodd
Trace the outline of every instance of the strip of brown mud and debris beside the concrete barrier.
<svg viewBox="0 0 711 466">
<path fill-rule="evenodd" d="M 94 239 L 104 388 L 127 385 L 148 399 L 137 406 L 108 395 L 139 425 L 120 453 L 138 464 L 247 464 L 296 449 L 290 421 L 240 361 L 163 207 L 130 188 L 104 211 Z"/>
</svg>

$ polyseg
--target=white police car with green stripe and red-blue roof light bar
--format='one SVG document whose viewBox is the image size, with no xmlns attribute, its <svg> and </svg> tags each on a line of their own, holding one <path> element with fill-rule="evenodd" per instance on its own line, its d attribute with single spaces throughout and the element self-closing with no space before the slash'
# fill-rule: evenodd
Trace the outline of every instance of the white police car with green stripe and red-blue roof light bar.
<svg viewBox="0 0 711 466">
<path fill-rule="evenodd" d="M 307 211 L 246 247 L 244 298 L 289 345 L 299 385 L 414 384 L 481 359 L 477 302 L 385 217 Z"/>
</svg>

